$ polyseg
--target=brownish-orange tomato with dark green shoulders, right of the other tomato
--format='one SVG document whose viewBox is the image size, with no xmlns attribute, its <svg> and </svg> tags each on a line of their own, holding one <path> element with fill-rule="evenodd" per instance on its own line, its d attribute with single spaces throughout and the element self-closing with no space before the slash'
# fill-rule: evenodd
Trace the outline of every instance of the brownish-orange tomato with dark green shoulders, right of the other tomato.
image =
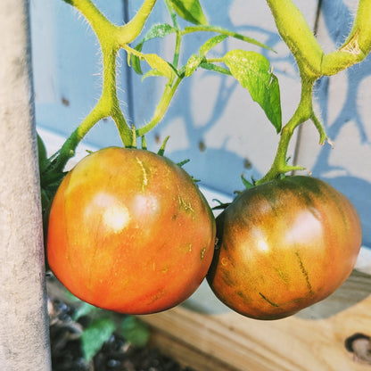
<svg viewBox="0 0 371 371">
<path fill-rule="evenodd" d="M 350 201 L 314 177 L 285 177 L 243 191 L 217 218 L 207 279 L 246 317 L 288 317 L 350 276 L 361 226 Z"/>
</svg>

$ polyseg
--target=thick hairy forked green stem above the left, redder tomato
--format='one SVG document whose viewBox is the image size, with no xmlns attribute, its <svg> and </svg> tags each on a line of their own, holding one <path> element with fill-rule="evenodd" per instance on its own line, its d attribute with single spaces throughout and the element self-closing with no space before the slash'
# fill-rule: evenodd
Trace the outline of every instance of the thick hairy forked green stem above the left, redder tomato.
<svg viewBox="0 0 371 371">
<path fill-rule="evenodd" d="M 117 96 L 116 58 L 120 47 L 136 39 L 151 13 L 156 0 L 144 0 L 136 16 L 124 26 L 111 23 L 91 0 L 64 0 L 81 12 L 90 23 L 101 45 L 103 54 L 103 89 L 99 101 L 78 128 L 62 145 L 54 164 L 54 170 L 62 171 L 67 161 L 74 156 L 76 147 L 96 122 L 110 117 L 115 121 L 121 140 L 125 146 L 133 145 L 132 130 L 128 127 Z"/>
</svg>

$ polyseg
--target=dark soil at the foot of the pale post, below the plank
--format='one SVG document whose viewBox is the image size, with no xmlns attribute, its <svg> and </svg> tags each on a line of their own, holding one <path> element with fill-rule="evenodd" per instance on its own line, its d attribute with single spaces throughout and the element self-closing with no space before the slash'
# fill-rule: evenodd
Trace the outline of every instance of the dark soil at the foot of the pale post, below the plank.
<svg viewBox="0 0 371 371">
<path fill-rule="evenodd" d="M 194 371 L 150 346 L 135 347 L 118 334 L 87 363 L 80 342 L 84 318 L 73 321 L 74 309 L 59 300 L 50 300 L 48 311 L 53 371 Z"/>
</svg>

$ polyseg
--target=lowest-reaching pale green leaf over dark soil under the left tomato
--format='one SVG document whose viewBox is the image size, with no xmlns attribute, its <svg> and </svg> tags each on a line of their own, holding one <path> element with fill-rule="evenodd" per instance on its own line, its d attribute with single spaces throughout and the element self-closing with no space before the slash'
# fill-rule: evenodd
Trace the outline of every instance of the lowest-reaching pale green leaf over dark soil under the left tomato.
<svg viewBox="0 0 371 371">
<path fill-rule="evenodd" d="M 101 317 L 95 319 L 81 335 L 84 358 L 90 361 L 102 348 L 103 343 L 110 339 L 116 326 L 111 318 Z"/>
</svg>

